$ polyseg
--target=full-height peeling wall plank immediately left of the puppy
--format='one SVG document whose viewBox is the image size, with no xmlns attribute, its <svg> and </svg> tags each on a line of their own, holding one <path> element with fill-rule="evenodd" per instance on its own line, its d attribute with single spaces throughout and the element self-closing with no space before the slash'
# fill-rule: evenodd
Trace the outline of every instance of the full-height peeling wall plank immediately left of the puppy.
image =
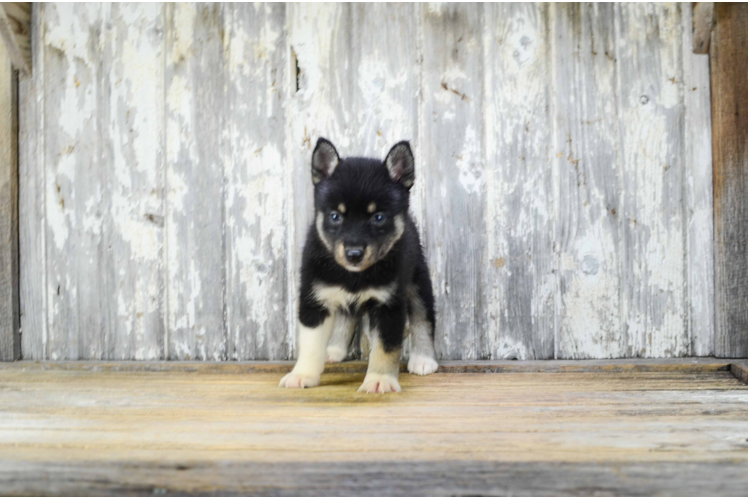
<svg viewBox="0 0 748 500">
<path fill-rule="evenodd" d="M 228 358 L 287 359 L 286 7 L 224 8 Z"/>
</svg>

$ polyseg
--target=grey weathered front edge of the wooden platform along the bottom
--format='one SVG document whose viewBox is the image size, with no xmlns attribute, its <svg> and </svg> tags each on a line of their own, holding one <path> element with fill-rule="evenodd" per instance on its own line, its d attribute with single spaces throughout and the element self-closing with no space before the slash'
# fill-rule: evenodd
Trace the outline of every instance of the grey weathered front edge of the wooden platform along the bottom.
<svg viewBox="0 0 748 500">
<path fill-rule="evenodd" d="M 478 460 L 160 463 L 4 461 L 4 493 L 216 496 L 739 497 L 743 463 L 568 464 Z M 44 477 L 45 481 L 39 481 Z"/>
</svg>

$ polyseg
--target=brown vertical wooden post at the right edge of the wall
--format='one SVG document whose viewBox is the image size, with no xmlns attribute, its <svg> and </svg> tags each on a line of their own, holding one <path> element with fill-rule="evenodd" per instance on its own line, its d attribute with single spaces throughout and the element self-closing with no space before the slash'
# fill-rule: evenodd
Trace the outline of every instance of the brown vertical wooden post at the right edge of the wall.
<svg viewBox="0 0 748 500">
<path fill-rule="evenodd" d="M 717 2 L 714 18 L 715 354 L 748 357 L 748 4 Z"/>
</svg>

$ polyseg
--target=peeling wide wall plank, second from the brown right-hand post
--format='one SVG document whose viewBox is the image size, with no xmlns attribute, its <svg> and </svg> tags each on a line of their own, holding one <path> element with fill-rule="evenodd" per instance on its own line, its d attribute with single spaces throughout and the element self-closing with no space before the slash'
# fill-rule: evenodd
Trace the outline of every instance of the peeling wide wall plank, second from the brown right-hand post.
<svg viewBox="0 0 748 500">
<path fill-rule="evenodd" d="M 685 356 L 690 340 L 680 6 L 623 3 L 616 10 L 627 355 Z"/>
</svg>

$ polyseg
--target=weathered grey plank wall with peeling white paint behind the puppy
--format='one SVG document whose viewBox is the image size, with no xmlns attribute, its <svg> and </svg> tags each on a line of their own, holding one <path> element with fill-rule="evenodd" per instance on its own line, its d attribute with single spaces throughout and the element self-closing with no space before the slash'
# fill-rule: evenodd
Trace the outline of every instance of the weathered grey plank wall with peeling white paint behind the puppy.
<svg viewBox="0 0 748 500">
<path fill-rule="evenodd" d="M 690 3 L 35 4 L 23 356 L 295 356 L 311 148 L 416 150 L 452 359 L 714 353 Z"/>
</svg>

